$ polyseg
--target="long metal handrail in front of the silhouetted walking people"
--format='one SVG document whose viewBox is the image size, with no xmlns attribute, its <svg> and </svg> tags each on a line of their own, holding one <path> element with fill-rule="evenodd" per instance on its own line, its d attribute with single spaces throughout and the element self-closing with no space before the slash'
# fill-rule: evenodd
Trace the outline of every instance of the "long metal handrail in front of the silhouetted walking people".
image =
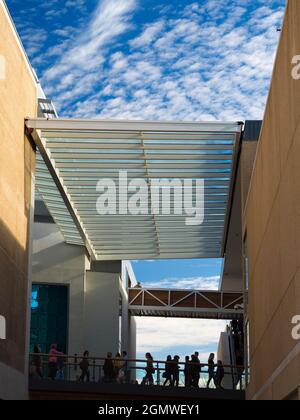
<svg viewBox="0 0 300 420">
<path fill-rule="evenodd" d="M 34 360 L 34 357 L 38 357 L 39 360 L 39 366 L 37 365 L 36 360 Z M 74 354 L 72 356 L 65 355 L 65 354 L 58 354 L 58 355 L 51 355 L 49 353 L 31 353 L 30 354 L 30 376 L 40 379 L 46 379 L 50 374 L 51 377 L 51 366 L 50 366 L 50 360 L 51 358 L 55 358 L 57 363 L 57 374 L 55 376 L 56 380 L 66 380 L 69 382 L 78 382 L 83 381 L 84 379 L 88 380 L 91 383 L 122 383 L 122 384 L 136 384 L 138 383 L 137 379 L 142 381 L 141 384 L 144 384 L 145 378 L 145 371 L 147 369 L 147 364 L 149 361 L 147 359 L 124 359 L 124 358 L 116 358 L 111 357 L 109 360 L 111 360 L 112 363 L 118 362 L 120 370 L 123 371 L 124 377 L 119 378 L 118 377 L 118 369 L 115 369 L 115 372 L 113 372 L 110 376 L 106 376 L 104 373 L 104 362 L 107 360 L 107 357 L 84 357 L 83 355 L 78 356 L 78 354 Z M 80 362 L 81 360 L 87 360 L 89 362 L 89 365 L 87 367 L 88 377 L 83 377 L 84 371 L 80 368 Z M 59 360 L 62 361 L 61 365 L 59 365 Z M 166 360 L 151 360 L 151 364 L 153 366 L 153 372 L 152 377 L 154 380 L 155 385 L 162 386 L 165 385 L 166 381 L 168 380 L 168 384 L 170 386 L 179 386 L 179 387 L 192 387 L 196 386 L 197 388 L 204 388 L 207 386 L 207 381 L 210 378 L 209 376 L 209 365 L 207 363 L 194 363 L 190 361 L 188 363 L 189 368 L 192 368 L 193 366 L 197 366 L 199 369 L 199 382 L 198 385 L 193 385 L 192 381 L 192 375 L 188 379 L 189 384 L 185 382 L 186 377 L 184 375 L 185 373 L 185 367 L 186 362 L 175 362 L 175 361 L 166 361 Z M 177 365 L 179 373 L 179 381 L 178 383 L 174 382 L 174 377 L 171 376 L 171 380 L 166 378 L 163 375 L 163 372 L 166 372 L 166 366 L 172 366 Z M 33 369 L 31 369 L 31 367 Z M 215 368 L 217 365 L 215 364 Z M 228 388 L 228 383 L 230 383 L 229 388 L 231 390 L 243 390 L 245 389 L 245 368 L 244 366 L 231 366 L 231 365 L 223 365 L 224 367 L 224 381 L 225 386 Z M 40 368 L 40 371 L 38 371 L 38 368 Z M 116 368 L 116 366 L 115 366 Z M 236 372 L 238 372 L 238 381 L 234 384 L 232 382 L 232 371 L 233 368 Z M 143 372 L 143 373 L 142 373 Z M 216 374 L 216 371 L 214 372 Z M 86 375 L 86 374 L 85 374 Z M 230 376 L 229 376 L 230 375 Z M 54 378 L 52 378 L 54 379 Z M 142 380 L 143 379 L 143 380 Z M 229 382 L 228 382 L 229 381 Z M 215 387 L 216 384 L 213 381 L 212 386 Z"/>
</svg>

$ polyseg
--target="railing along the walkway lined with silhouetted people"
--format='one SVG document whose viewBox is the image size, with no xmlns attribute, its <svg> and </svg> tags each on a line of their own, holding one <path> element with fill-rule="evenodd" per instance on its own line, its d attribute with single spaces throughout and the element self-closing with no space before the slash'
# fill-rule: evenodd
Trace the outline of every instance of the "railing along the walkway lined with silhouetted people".
<svg viewBox="0 0 300 420">
<path fill-rule="evenodd" d="M 119 384 L 141 384 L 143 385 L 143 378 L 146 376 L 147 361 L 145 359 L 114 359 L 110 360 L 113 363 L 114 370 L 111 375 L 105 374 L 104 357 L 88 357 L 85 362 L 88 362 L 88 377 L 85 375 L 82 378 L 82 360 L 83 356 L 75 355 L 58 355 L 55 356 L 55 375 L 53 373 L 53 362 L 50 366 L 50 361 L 53 360 L 53 355 L 32 353 L 30 354 L 29 375 L 35 379 L 41 380 L 56 380 L 56 381 L 71 381 L 71 382 L 90 382 L 90 383 L 119 383 Z M 169 362 L 170 365 L 174 363 Z M 86 365 L 87 366 L 87 365 Z M 191 375 L 186 375 L 186 363 L 179 362 L 179 381 L 178 387 L 193 387 Z M 190 371 L 195 367 L 199 369 L 199 364 L 192 362 L 188 363 Z M 245 368 L 243 366 L 224 365 L 224 379 L 222 387 L 228 390 L 245 390 Z M 52 370 L 51 370 L 52 369 Z M 205 363 L 200 363 L 200 378 L 199 388 L 206 388 L 209 380 L 209 366 Z M 216 374 L 215 367 L 215 374 Z M 164 386 L 166 381 L 166 361 L 153 360 L 153 385 Z M 144 383 L 147 385 L 147 382 Z M 168 382 L 166 386 L 177 386 L 174 383 Z M 211 380 L 211 389 L 216 388 L 215 377 Z"/>
</svg>

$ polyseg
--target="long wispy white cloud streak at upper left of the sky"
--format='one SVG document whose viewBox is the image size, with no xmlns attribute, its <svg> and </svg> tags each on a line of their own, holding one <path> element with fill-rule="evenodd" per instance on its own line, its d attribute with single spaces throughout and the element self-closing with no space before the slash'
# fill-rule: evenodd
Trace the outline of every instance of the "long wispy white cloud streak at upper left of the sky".
<svg viewBox="0 0 300 420">
<path fill-rule="evenodd" d="M 55 95 L 58 105 L 94 91 L 101 78 L 104 51 L 128 29 L 128 14 L 135 4 L 135 0 L 99 1 L 85 31 L 60 45 L 59 60 L 43 74 L 45 88 Z"/>
</svg>

